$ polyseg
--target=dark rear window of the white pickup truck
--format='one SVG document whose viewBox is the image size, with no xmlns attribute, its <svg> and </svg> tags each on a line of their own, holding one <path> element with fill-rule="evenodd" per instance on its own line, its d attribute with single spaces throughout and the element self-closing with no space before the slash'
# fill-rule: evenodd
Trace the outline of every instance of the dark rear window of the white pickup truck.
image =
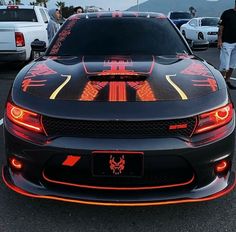
<svg viewBox="0 0 236 232">
<path fill-rule="evenodd" d="M 37 22 L 33 9 L 0 9 L 0 22 Z"/>
</svg>

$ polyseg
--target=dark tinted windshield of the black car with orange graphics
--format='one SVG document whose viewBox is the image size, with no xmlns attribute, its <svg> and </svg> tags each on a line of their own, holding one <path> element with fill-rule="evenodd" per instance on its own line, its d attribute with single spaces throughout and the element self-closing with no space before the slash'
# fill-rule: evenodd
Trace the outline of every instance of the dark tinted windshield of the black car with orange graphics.
<svg viewBox="0 0 236 232">
<path fill-rule="evenodd" d="M 80 19 L 68 33 L 70 21 L 63 25 L 47 54 L 173 55 L 189 51 L 166 18 Z"/>
</svg>

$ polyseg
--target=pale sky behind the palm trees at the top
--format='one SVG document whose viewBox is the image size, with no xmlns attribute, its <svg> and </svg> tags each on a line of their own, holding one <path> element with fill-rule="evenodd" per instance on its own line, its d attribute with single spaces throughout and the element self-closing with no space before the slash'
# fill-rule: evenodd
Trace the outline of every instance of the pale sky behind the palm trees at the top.
<svg viewBox="0 0 236 232">
<path fill-rule="evenodd" d="M 21 0 L 24 4 L 29 4 L 33 0 Z M 66 3 L 66 6 L 98 6 L 104 10 L 126 10 L 127 8 L 134 6 L 139 3 L 145 2 L 145 0 L 49 0 L 48 8 L 55 7 L 57 1 L 63 1 Z"/>
</svg>

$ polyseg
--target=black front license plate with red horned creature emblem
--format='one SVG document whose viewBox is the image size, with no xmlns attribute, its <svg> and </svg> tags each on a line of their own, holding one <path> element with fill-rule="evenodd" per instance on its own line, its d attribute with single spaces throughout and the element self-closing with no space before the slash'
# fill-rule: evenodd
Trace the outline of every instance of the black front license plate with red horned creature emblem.
<svg viewBox="0 0 236 232">
<path fill-rule="evenodd" d="M 94 176 L 139 177 L 143 175 L 142 152 L 94 152 Z"/>
</svg>

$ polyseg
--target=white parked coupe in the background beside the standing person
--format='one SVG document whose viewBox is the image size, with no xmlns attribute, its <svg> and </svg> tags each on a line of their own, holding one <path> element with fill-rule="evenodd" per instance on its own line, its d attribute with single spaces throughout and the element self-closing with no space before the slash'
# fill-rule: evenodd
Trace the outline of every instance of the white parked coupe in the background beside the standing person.
<svg viewBox="0 0 236 232">
<path fill-rule="evenodd" d="M 219 17 L 198 17 L 180 27 L 182 35 L 190 41 L 207 40 L 217 43 Z"/>
</svg>

